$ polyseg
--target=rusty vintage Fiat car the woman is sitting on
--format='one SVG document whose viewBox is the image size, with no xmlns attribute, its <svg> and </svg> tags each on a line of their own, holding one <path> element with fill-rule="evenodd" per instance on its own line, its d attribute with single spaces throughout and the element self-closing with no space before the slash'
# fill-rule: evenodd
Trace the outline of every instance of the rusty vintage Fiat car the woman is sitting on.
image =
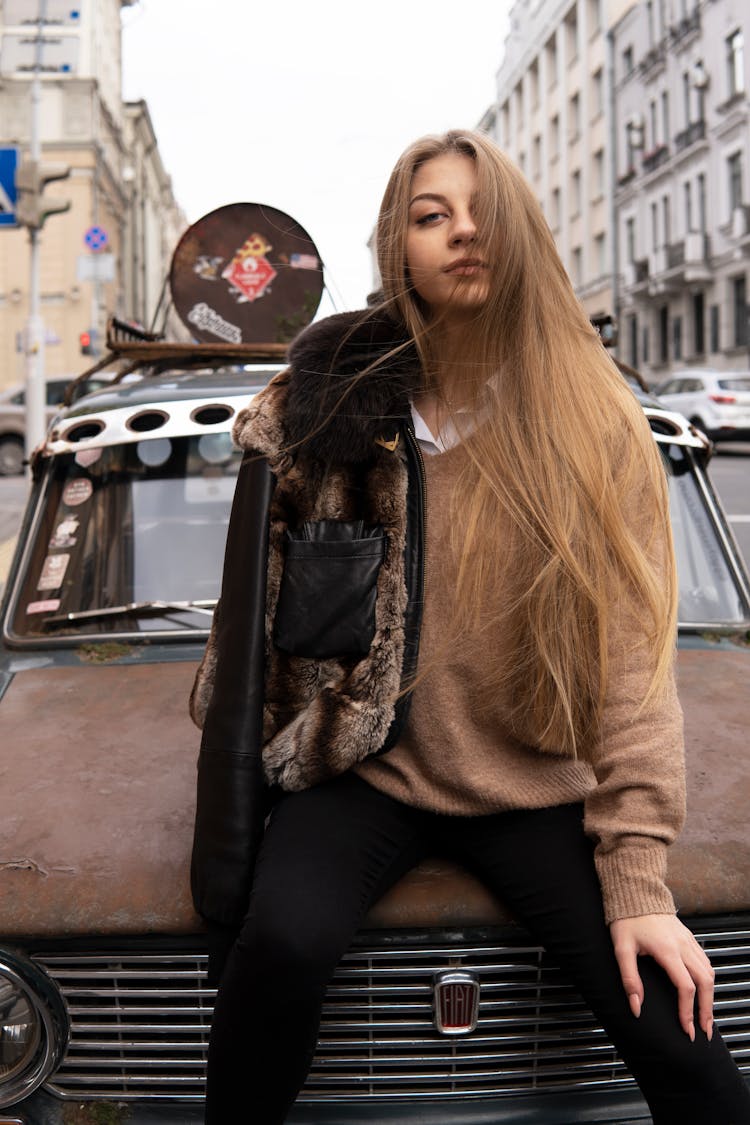
<svg viewBox="0 0 750 1125">
<path fill-rule="evenodd" d="M 143 378 L 64 410 L 35 458 L 2 605 L 0 1123 L 202 1117 L 214 993 L 188 881 L 199 736 L 187 699 L 219 592 L 232 422 L 273 364 L 198 351 L 123 345 L 116 362 Z M 689 819 L 670 880 L 750 1071 L 750 584 L 706 440 L 644 410 L 680 579 Z M 372 910 L 343 958 L 289 1117 L 649 1119 L 543 951 L 437 861 Z"/>
</svg>

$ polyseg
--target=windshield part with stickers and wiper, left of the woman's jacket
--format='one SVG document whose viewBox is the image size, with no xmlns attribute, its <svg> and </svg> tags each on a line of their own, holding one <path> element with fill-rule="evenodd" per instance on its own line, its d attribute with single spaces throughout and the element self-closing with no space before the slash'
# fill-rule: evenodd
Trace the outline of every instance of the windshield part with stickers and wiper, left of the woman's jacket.
<svg viewBox="0 0 750 1125">
<path fill-rule="evenodd" d="M 12 632 L 207 629 L 240 457 L 228 433 L 57 457 Z"/>
</svg>

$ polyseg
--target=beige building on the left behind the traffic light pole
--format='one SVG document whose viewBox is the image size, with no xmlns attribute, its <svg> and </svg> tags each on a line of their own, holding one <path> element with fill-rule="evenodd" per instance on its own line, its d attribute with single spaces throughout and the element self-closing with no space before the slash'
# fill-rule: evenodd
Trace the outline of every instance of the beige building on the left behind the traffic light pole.
<svg viewBox="0 0 750 1125">
<path fill-rule="evenodd" d="M 54 17 L 60 10 L 63 18 L 45 29 L 53 42 L 44 50 L 49 63 L 57 54 L 72 60 L 67 71 L 43 70 L 40 82 L 42 160 L 71 168 L 69 179 L 44 192 L 71 202 L 69 212 L 47 219 L 39 237 L 48 376 L 74 375 L 91 362 L 81 354 L 81 334 L 91 333 L 94 348 L 101 346 L 109 314 L 150 326 L 172 251 L 187 226 L 145 104 L 123 102 L 120 11 L 130 2 L 82 4 L 71 24 L 64 12 L 79 9 L 47 0 L 47 12 Z M 34 8 L 31 0 L 0 0 L 0 144 L 18 147 L 21 158 L 31 135 L 31 74 L 22 66 L 18 43 L 33 38 L 36 25 L 19 20 Z M 107 236 L 98 254 L 84 242 L 91 227 Z M 7 386 L 25 377 L 26 231 L 0 228 L 0 386 Z M 94 256 L 100 260 L 93 262 Z"/>
</svg>

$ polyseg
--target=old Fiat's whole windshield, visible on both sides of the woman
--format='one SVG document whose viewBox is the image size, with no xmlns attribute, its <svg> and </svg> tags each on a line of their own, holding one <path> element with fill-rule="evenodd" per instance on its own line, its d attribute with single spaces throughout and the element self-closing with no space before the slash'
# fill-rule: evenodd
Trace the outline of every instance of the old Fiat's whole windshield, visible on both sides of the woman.
<svg viewBox="0 0 750 1125">
<path fill-rule="evenodd" d="M 661 444 L 684 626 L 742 624 L 748 606 L 693 457 Z M 148 438 L 55 458 L 12 598 L 37 642 L 196 636 L 219 595 L 241 454 L 228 433 Z"/>
</svg>

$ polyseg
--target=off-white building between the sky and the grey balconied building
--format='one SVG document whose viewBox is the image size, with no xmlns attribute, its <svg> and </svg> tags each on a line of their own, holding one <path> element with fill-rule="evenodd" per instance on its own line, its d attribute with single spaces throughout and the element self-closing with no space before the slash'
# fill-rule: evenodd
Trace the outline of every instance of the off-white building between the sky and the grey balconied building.
<svg viewBox="0 0 750 1125">
<path fill-rule="evenodd" d="M 611 8 L 516 0 L 497 101 L 480 123 L 531 182 L 591 317 L 613 312 Z"/>
</svg>

